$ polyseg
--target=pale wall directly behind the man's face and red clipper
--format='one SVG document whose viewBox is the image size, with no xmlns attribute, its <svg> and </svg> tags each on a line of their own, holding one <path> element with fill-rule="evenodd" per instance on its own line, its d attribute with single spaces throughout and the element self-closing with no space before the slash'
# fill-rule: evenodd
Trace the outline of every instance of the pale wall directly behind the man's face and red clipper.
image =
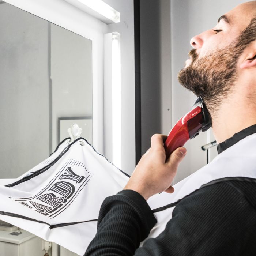
<svg viewBox="0 0 256 256">
<path fill-rule="evenodd" d="M 214 27 L 218 18 L 243 0 L 171 0 L 172 34 L 172 124 L 187 113 L 196 97 L 177 82 L 177 74 L 188 59 L 192 49 L 190 39 L 204 30 Z M 185 144 L 188 153 L 181 163 L 174 183 L 195 172 L 206 164 L 206 152 L 201 146 L 207 143 L 206 133 Z M 214 140 L 211 134 L 211 140 Z M 211 159 L 216 155 L 216 147 L 211 150 Z"/>
</svg>

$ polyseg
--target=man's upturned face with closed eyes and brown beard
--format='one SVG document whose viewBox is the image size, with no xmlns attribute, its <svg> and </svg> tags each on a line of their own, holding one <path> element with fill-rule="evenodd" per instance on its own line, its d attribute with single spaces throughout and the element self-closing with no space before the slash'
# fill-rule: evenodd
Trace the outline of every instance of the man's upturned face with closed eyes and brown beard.
<svg viewBox="0 0 256 256">
<path fill-rule="evenodd" d="M 256 1 L 238 5 L 221 16 L 213 29 L 191 39 L 194 49 L 178 79 L 185 88 L 201 96 L 212 112 L 232 91 L 239 58 L 237 38 L 255 12 Z"/>
</svg>

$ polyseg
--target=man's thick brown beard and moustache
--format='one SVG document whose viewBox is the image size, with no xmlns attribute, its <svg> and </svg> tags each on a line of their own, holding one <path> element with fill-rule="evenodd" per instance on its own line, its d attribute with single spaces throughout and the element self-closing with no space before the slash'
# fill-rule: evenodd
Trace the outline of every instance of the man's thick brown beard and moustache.
<svg viewBox="0 0 256 256">
<path fill-rule="evenodd" d="M 211 115 L 214 115 L 234 89 L 240 51 L 233 43 L 200 59 L 195 49 L 189 55 L 192 62 L 179 72 L 178 80 L 196 96 L 201 96 Z"/>
</svg>

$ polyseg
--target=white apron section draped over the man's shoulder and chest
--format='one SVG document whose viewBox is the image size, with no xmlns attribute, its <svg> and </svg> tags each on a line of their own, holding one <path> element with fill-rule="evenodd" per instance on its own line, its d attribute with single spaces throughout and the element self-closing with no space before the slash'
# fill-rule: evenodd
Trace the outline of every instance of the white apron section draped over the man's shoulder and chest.
<svg viewBox="0 0 256 256">
<path fill-rule="evenodd" d="M 227 148 L 211 163 L 178 182 L 174 185 L 174 193 L 161 193 L 148 199 L 150 208 L 155 209 L 153 212 L 157 219 L 148 238 L 157 237 L 165 229 L 176 204 L 185 196 L 200 187 L 226 180 L 239 180 L 239 177 L 256 179 L 256 133 Z M 162 207 L 164 204 L 170 205 Z"/>
</svg>

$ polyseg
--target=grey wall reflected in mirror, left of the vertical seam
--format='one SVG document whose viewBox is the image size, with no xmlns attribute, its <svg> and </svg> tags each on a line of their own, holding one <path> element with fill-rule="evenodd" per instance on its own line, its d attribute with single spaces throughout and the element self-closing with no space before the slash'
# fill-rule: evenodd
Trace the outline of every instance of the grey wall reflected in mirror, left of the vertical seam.
<svg viewBox="0 0 256 256">
<path fill-rule="evenodd" d="M 16 178 L 49 153 L 47 22 L 1 4 L 0 34 L 0 178 Z"/>
</svg>

